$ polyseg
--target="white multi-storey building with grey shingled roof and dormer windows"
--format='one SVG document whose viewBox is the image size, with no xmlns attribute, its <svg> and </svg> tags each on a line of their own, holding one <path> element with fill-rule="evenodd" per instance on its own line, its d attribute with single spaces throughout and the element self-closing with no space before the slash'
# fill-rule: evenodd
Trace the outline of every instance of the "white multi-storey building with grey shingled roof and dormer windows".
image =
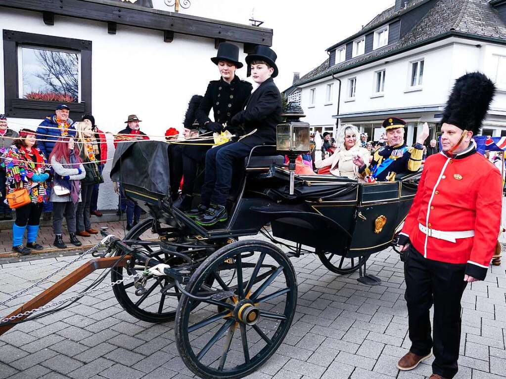
<svg viewBox="0 0 506 379">
<path fill-rule="evenodd" d="M 454 80 L 481 71 L 497 87 L 483 134 L 506 136 L 504 0 L 397 0 L 327 53 L 290 87 L 300 88 L 314 130 L 353 123 L 377 140 L 393 115 L 408 122 L 408 144 L 424 122 L 437 137 Z"/>
</svg>

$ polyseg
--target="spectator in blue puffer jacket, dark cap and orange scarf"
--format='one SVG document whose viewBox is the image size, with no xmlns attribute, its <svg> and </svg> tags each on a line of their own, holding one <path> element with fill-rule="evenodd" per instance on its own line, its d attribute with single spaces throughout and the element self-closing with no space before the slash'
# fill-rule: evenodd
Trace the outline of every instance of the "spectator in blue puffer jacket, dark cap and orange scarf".
<svg viewBox="0 0 506 379">
<path fill-rule="evenodd" d="M 75 128 L 72 126 L 73 121 L 69 117 L 69 114 L 70 109 L 65 104 L 61 104 L 56 107 L 54 115 L 47 116 L 39 124 L 36 134 L 37 145 L 45 157 L 49 157 L 59 137 L 65 137 L 67 135 L 71 137 L 75 136 Z M 53 204 L 51 204 L 51 202 L 44 203 L 44 220 L 51 219 L 52 211 Z"/>
</svg>

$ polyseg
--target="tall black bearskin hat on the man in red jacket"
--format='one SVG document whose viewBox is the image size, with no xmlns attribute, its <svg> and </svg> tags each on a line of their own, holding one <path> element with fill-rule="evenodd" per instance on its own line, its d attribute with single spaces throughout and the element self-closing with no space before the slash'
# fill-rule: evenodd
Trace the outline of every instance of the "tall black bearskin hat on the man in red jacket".
<svg viewBox="0 0 506 379">
<path fill-rule="evenodd" d="M 462 130 L 480 134 L 481 123 L 494 97 L 495 86 L 480 72 L 459 77 L 446 103 L 441 124 L 458 126 Z"/>
</svg>

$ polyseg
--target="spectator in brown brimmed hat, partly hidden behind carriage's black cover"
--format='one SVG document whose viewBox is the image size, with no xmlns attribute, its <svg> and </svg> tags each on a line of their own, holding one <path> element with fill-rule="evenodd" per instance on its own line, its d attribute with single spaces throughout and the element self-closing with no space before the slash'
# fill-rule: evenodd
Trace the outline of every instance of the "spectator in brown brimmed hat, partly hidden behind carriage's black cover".
<svg viewBox="0 0 506 379">
<path fill-rule="evenodd" d="M 149 137 L 141 131 L 140 122 L 142 122 L 142 120 L 139 120 L 137 115 L 128 116 L 128 119 L 125 121 L 126 128 L 120 130 L 114 138 L 114 147 L 117 147 L 118 142 L 121 140 L 149 139 Z M 126 230 L 130 230 L 139 223 L 142 209 L 135 201 L 126 199 L 121 188 L 119 188 L 118 191 L 120 193 L 119 209 L 126 210 Z"/>
</svg>

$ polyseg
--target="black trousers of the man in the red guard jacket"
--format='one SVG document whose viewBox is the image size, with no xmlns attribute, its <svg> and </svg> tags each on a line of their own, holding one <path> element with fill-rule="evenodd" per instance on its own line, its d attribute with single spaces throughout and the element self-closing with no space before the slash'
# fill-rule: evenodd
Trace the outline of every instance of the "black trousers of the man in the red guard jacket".
<svg viewBox="0 0 506 379">
<path fill-rule="evenodd" d="M 427 355 L 433 349 L 433 373 L 451 379 L 458 370 L 460 299 L 466 288 L 466 264 L 424 258 L 412 246 L 404 262 L 410 351 Z M 434 304 L 434 341 L 429 310 Z"/>
</svg>

